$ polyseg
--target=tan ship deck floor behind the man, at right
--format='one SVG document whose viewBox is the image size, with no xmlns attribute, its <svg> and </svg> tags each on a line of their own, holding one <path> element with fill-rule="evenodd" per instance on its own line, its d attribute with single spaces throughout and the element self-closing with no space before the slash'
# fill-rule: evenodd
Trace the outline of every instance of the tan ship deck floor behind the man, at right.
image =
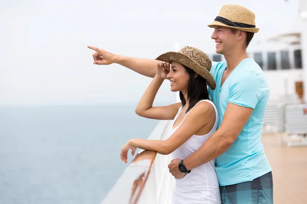
<svg viewBox="0 0 307 204">
<path fill-rule="evenodd" d="M 306 203 L 307 146 L 288 147 L 280 134 L 261 141 L 273 169 L 274 203 Z"/>
</svg>

